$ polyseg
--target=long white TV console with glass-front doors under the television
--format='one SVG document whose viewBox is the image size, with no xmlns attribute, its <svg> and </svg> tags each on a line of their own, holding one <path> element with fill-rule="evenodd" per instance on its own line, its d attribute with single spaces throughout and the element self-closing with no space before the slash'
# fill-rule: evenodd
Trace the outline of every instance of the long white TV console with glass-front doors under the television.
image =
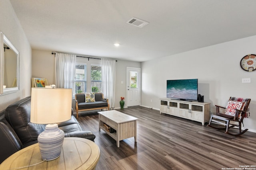
<svg viewBox="0 0 256 170">
<path fill-rule="evenodd" d="M 160 114 L 166 113 L 201 122 L 202 125 L 210 119 L 210 103 L 188 102 L 183 100 L 173 100 L 170 98 L 160 98 Z"/>
</svg>

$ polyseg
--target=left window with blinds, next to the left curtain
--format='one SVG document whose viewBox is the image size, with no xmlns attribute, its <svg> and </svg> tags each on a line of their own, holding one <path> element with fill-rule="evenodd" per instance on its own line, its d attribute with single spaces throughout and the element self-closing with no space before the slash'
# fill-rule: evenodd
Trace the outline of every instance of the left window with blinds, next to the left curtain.
<svg viewBox="0 0 256 170">
<path fill-rule="evenodd" d="M 86 64 L 76 64 L 73 94 L 86 92 Z"/>
</svg>

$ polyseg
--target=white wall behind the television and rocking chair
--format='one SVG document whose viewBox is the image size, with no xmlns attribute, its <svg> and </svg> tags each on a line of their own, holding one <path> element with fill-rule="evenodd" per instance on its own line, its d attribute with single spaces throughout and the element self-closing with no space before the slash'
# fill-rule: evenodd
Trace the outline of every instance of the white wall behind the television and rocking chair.
<svg viewBox="0 0 256 170">
<path fill-rule="evenodd" d="M 253 36 L 143 62 L 142 106 L 160 109 L 166 80 L 198 78 L 198 93 L 211 103 L 212 112 L 215 104 L 226 106 L 230 96 L 250 98 L 251 114 L 244 127 L 256 132 L 256 71 L 240 67 L 242 57 L 256 54 L 255 47 Z M 251 83 L 242 83 L 242 78 L 251 78 Z"/>
</svg>

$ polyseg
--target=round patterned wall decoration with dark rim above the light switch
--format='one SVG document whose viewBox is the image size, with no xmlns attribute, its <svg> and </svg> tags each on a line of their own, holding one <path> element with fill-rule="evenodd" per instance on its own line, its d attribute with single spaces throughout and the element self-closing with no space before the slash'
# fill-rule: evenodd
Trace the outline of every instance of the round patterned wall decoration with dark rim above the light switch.
<svg viewBox="0 0 256 170">
<path fill-rule="evenodd" d="M 244 56 L 240 62 L 240 66 L 242 69 L 246 71 L 253 71 L 256 69 L 256 55 L 255 54 L 248 54 Z"/>
</svg>

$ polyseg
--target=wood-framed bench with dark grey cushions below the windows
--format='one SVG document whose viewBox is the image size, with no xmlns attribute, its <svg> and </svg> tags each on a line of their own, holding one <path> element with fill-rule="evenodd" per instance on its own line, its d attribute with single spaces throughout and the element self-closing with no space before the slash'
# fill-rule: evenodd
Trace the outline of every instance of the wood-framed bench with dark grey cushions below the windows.
<svg viewBox="0 0 256 170">
<path fill-rule="evenodd" d="M 89 110 L 97 110 L 97 109 L 109 110 L 108 99 L 104 99 L 102 93 L 94 93 L 95 102 L 86 102 L 85 96 L 86 96 L 86 93 L 78 93 L 75 95 L 76 118 L 78 118 L 79 111 L 89 111 Z"/>
</svg>

